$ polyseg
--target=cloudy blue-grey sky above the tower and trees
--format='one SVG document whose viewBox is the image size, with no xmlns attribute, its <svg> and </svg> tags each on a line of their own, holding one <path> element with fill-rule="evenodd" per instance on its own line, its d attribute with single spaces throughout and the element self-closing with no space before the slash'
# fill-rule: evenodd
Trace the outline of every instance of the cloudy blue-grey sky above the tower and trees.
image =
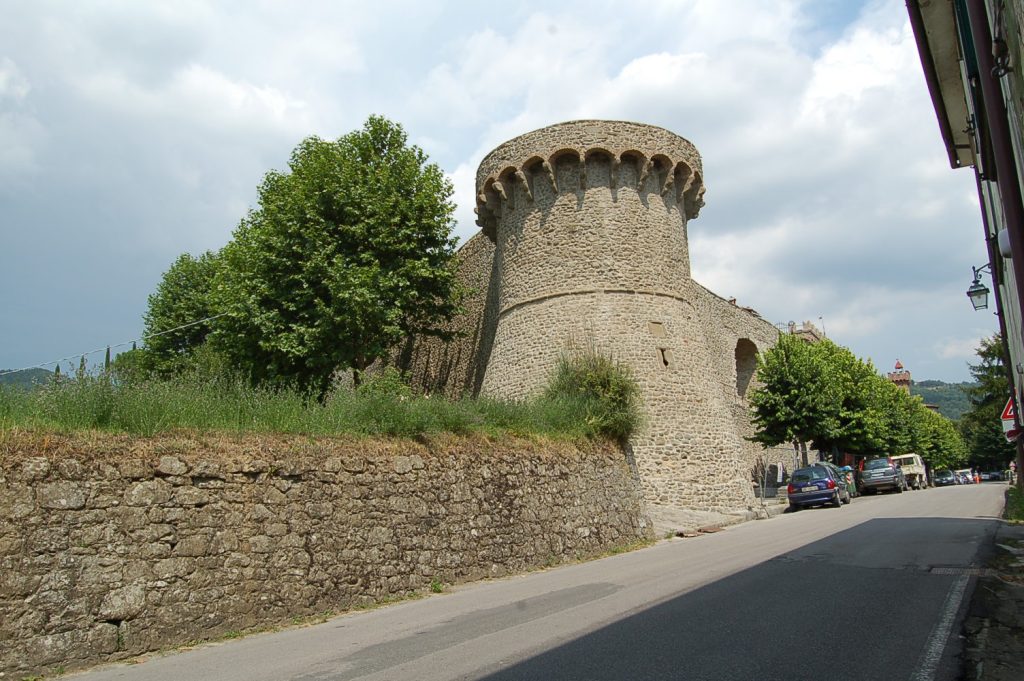
<svg viewBox="0 0 1024 681">
<path fill-rule="evenodd" d="M 996 329 L 986 257 L 902 0 L 0 0 L 0 368 L 137 338 L 182 252 L 219 249 L 303 137 L 371 114 L 447 172 L 580 118 L 703 156 L 693 276 L 918 380 Z M 986 282 L 988 283 L 988 282 Z M 990 283 L 989 283 L 990 284 Z M 52 368 L 52 367 L 50 367 Z"/>
</svg>

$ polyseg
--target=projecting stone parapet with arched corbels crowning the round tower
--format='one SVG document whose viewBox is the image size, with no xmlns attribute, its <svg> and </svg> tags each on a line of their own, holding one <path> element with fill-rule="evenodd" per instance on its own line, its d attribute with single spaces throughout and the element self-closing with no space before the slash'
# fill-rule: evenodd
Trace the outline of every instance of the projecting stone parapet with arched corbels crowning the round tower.
<svg viewBox="0 0 1024 681">
<path fill-rule="evenodd" d="M 570 121 L 511 139 L 488 154 L 476 175 L 476 223 L 495 241 L 502 215 L 519 202 L 543 204 L 607 188 L 657 195 L 697 217 L 705 185 L 700 155 L 664 128 L 628 121 Z"/>
</svg>

